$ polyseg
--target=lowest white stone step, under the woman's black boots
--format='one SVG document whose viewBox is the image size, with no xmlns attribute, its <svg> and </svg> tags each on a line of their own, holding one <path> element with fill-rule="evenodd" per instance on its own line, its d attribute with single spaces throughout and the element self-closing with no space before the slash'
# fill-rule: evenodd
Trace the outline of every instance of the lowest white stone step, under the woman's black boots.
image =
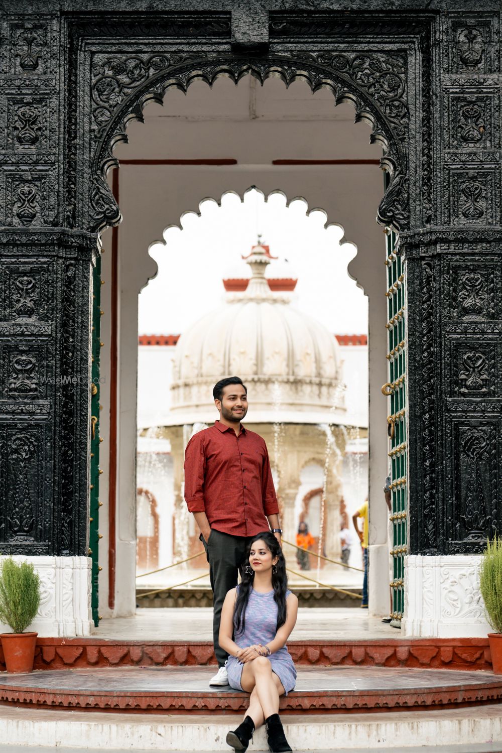
<svg viewBox="0 0 502 753">
<path fill-rule="evenodd" d="M 157 715 L 53 711 L 0 707 L 2 745 L 19 751 L 231 751 L 225 736 L 239 724 L 233 715 Z M 367 714 L 284 715 L 284 729 L 294 751 L 408 751 L 420 746 L 449 745 L 470 753 L 466 744 L 502 751 L 502 705 L 443 711 Z M 0 748 L 4 751 L 5 747 Z M 420 748 L 423 750 L 423 748 Z M 441 748 L 439 748 L 441 749 Z M 257 730 L 249 753 L 266 751 L 265 732 Z"/>
</svg>

